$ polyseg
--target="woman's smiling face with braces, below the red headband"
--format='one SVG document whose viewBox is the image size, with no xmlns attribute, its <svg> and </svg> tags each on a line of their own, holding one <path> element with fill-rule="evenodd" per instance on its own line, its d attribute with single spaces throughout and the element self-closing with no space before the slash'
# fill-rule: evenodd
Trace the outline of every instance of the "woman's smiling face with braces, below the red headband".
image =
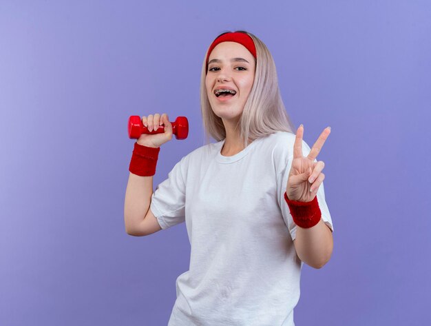
<svg viewBox="0 0 431 326">
<path fill-rule="evenodd" d="M 225 121 L 237 121 L 244 110 L 255 76 L 255 58 L 244 45 L 222 42 L 208 59 L 205 86 L 213 112 Z M 216 90 L 231 90 L 217 92 Z M 235 94 L 232 94 L 235 93 Z"/>
</svg>

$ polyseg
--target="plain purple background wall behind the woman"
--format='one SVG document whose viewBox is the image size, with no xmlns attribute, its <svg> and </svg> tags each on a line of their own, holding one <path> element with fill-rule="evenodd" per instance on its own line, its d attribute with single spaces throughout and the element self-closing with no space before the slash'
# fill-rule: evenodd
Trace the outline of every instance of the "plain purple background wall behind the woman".
<svg viewBox="0 0 431 326">
<path fill-rule="evenodd" d="M 430 1 L 0 1 L 0 325 L 167 325 L 185 224 L 125 233 L 129 115 L 185 115 L 154 189 L 203 145 L 205 50 L 269 47 L 295 128 L 332 132 L 335 248 L 304 265 L 297 325 L 425 325 L 430 302 Z"/>
</svg>

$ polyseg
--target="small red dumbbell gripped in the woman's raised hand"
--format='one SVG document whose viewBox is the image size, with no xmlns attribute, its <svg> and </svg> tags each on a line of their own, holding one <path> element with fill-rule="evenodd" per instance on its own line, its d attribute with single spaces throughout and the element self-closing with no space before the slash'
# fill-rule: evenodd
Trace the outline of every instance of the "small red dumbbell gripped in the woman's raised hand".
<svg viewBox="0 0 431 326">
<path fill-rule="evenodd" d="M 172 133 L 176 139 L 186 139 L 189 135 L 189 121 L 185 116 L 178 116 L 172 124 Z M 129 139 L 138 139 L 141 134 L 162 134 L 165 132 L 165 126 L 159 125 L 157 130 L 148 130 L 142 123 L 140 116 L 129 116 L 127 125 L 129 131 Z"/>
</svg>

